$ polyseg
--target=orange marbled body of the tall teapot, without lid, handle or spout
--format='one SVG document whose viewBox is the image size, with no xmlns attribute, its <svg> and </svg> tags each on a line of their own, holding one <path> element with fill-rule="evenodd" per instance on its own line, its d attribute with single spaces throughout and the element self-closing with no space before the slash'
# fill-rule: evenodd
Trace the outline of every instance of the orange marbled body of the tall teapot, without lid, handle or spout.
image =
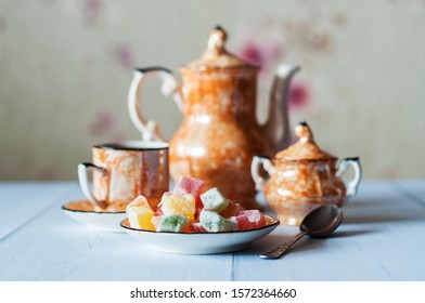
<svg viewBox="0 0 425 303">
<path fill-rule="evenodd" d="M 173 180 L 191 175 L 256 208 L 249 169 L 254 155 L 271 155 L 256 115 L 257 68 L 182 68 L 184 119 L 170 142 Z"/>
</svg>

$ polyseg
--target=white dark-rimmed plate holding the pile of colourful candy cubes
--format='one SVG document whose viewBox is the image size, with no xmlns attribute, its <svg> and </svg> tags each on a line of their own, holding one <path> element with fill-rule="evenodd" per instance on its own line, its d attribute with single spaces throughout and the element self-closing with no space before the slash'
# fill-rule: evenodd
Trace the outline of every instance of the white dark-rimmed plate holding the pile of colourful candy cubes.
<svg viewBox="0 0 425 303">
<path fill-rule="evenodd" d="M 127 234 L 147 243 L 154 250 L 182 254 L 209 254 L 246 249 L 253 241 L 271 233 L 279 223 L 278 219 L 266 215 L 266 226 L 256 229 L 183 234 L 131 228 L 126 219 L 121 222 L 121 227 Z"/>
</svg>

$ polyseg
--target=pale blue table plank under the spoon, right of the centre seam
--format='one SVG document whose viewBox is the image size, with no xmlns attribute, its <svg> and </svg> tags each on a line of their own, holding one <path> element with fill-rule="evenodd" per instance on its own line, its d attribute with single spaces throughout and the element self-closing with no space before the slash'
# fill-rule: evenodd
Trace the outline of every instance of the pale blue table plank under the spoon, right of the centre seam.
<svg viewBox="0 0 425 303">
<path fill-rule="evenodd" d="M 425 209 L 391 183 L 364 182 L 327 239 L 305 237 L 280 260 L 258 260 L 297 233 L 280 226 L 235 255 L 236 280 L 425 280 Z"/>
</svg>

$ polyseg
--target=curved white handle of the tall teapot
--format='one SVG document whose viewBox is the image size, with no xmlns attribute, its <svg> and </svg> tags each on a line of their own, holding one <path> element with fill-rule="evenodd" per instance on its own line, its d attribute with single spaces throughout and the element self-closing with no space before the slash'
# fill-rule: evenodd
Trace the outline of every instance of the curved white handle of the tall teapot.
<svg viewBox="0 0 425 303">
<path fill-rule="evenodd" d="M 163 80 L 160 88 L 164 95 L 170 95 L 182 111 L 182 102 L 179 91 L 179 83 L 172 73 L 164 67 L 137 68 L 133 73 L 133 79 L 128 92 L 128 111 L 134 127 L 142 133 L 143 141 L 163 141 L 166 140 L 159 133 L 157 123 L 153 120 L 146 121 L 143 118 L 140 106 L 138 106 L 139 95 L 141 94 L 142 84 L 151 77 L 158 77 Z M 140 97 L 141 98 L 141 97 Z"/>
</svg>

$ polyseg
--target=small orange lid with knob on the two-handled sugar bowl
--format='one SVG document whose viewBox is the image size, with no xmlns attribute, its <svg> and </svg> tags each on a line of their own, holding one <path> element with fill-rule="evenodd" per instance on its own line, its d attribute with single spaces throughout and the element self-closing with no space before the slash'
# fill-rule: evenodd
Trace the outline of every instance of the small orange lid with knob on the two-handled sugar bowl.
<svg viewBox="0 0 425 303">
<path fill-rule="evenodd" d="M 275 158 L 282 160 L 335 160 L 332 156 L 320 149 L 313 139 L 313 133 L 307 122 L 299 122 L 295 127 L 298 141 L 288 148 L 278 153 Z"/>
</svg>

